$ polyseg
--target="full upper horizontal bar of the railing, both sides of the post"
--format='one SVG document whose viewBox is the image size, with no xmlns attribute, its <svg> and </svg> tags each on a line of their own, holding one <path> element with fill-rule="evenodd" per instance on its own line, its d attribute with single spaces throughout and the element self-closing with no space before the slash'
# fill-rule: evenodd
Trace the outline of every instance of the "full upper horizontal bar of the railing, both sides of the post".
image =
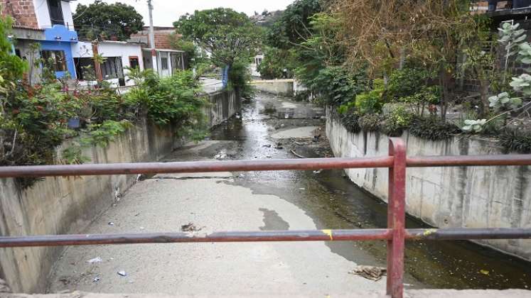
<svg viewBox="0 0 531 298">
<path fill-rule="evenodd" d="M 272 170 L 329 170 L 392 167 L 392 156 L 371 158 L 306 158 L 285 160 L 225 160 L 197 162 L 136 162 L 84 165 L 27 165 L 0 167 L 0 178 L 168 174 Z M 407 158 L 407 167 L 531 165 L 531 155 L 444 155 Z"/>
</svg>

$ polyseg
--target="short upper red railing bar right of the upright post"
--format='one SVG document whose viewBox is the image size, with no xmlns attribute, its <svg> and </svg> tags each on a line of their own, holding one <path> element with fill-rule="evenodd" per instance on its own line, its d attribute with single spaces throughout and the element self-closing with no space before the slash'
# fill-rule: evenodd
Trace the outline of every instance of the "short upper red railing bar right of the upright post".
<svg viewBox="0 0 531 298">
<path fill-rule="evenodd" d="M 531 165 L 531 154 L 414 156 L 407 158 L 406 164 L 408 167 Z"/>
</svg>

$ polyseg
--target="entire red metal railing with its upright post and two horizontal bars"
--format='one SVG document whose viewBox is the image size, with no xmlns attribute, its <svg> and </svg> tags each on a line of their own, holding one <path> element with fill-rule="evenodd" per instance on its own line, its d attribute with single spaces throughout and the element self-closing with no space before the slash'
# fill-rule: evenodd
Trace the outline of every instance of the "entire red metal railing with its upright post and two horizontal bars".
<svg viewBox="0 0 531 298">
<path fill-rule="evenodd" d="M 387 294 L 402 297 L 406 239 L 463 240 L 531 238 L 525 228 L 405 228 L 407 167 L 531 165 L 531 155 L 406 157 L 404 142 L 390 138 L 389 156 L 378 158 L 313 158 L 304 160 L 235 160 L 216 162 L 147 162 L 95 165 L 0 167 L 3 177 L 45 177 L 178 172 L 317 170 L 388 167 L 387 228 L 316 231 L 245 231 L 216 233 L 126 233 L 45 236 L 1 236 L 0 248 L 126 243 L 250 242 L 250 241 L 387 241 Z"/>
</svg>

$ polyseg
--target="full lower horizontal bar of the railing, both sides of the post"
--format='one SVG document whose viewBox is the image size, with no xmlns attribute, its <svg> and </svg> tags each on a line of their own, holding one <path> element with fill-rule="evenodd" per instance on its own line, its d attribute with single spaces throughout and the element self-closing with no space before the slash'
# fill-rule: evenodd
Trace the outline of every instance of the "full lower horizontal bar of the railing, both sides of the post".
<svg viewBox="0 0 531 298">
<path fill-rule="evenodd" d="M 390 239 L 387 228 L 313 231 L 238 231 L 215 233 L 124 233 L 0 237 L 0 248 L 22 246 L 61 246 L 180 242 L 258 242 L 258 241 L 367 241 Z M 410 228 L 409 240 L 527 239 L 525 228 Z"/>
</svg>

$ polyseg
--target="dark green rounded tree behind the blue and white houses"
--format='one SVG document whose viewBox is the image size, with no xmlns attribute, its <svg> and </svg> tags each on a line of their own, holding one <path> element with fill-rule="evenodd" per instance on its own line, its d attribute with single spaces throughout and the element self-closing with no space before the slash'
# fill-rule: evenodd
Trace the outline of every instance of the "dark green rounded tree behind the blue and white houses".
<svg viewBox="0 0 531 298">
<path fill-rule="evenodd" d="M 133 6 L 117 2 L 107 4 L 95 1 L 88 6 L 79 4 L 73 15 L 75 28 L 88 39 L 109 38 L 127 40 L 144 26 L 142 16 Z"/>
</svg>

